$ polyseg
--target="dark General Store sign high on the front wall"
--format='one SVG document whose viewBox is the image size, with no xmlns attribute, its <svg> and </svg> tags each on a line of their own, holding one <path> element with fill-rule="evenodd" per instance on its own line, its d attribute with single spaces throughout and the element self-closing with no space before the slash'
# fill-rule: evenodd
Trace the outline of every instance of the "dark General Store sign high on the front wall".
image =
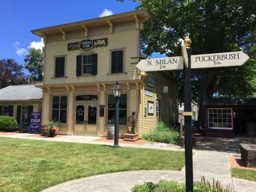
<svg viewBox="0 0 256 192">
<path fill-rule="evenodd" d="M 68 44 L 68 50 L 89 50 L 94 47 L 101 47 L 101 46 L 108 46 L 108 39 L 84 39 L 80 42 L 72 42 L 71 44 Z"/>
</svg>

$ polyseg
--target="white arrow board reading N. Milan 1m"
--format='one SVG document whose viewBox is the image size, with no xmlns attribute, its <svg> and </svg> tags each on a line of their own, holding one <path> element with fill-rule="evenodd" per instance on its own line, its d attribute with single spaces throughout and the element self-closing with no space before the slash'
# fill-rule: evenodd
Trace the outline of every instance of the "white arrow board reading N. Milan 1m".
<svg viewBox="0 0 256 192">
<path fill-rule="evenodd" d="M 156 59 L 142 59 L 136 65 L 140 71 L 165 71 L 183 69 L 182 57 L 165 57 Z"/>
</svg>

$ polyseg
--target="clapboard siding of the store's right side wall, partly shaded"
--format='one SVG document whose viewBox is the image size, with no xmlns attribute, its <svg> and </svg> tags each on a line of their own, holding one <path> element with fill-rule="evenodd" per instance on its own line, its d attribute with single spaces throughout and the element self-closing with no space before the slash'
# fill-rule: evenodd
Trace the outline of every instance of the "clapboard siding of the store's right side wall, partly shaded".
<svg viewBox="0 0 256 192">
<path fill-rule="evenodd" d="M 162 72 L 154 72 L 155 75 L 155 88 L 147 86 L 146 78 L 143 80 L 143 87 L 140 89 L 140 99 L 139 99 L 139 134 L 140 136 L 144 133 L 149 133 L 156 129 L 159 121 L 171 125 L 172 121 L 178 121 L 178 83 L 172 78 L 167 76 Z M 156 81 L 159 80 L 157 85 Z M 159 89 L 157 89 L 159 86 Z M 168 87 L 168 93 L 163 94 L 163 86 Z M 153 91 L 153 96 L 146 96 L 145 90 Z M 157 91 L 158 90 L 158 91 Z M 156 116 L 156 100 L 161 100 L 161 111 L 160 116 Z M 147 108 L 148 101 L 154 102 L 154 115 L 146 115 L 144 117 L 144 108 Z"/>
</svg>

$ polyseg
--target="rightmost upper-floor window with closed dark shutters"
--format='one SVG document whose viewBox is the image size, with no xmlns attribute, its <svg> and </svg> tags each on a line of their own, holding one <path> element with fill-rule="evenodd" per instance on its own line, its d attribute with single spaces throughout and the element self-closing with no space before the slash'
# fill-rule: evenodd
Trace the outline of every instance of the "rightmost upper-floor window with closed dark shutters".
<svg viewBox="0 0 256 192">
<path fill-rule="evenodd" d="M 123 50 L 111 52 L 111 73 L 123 73 Z"/>
</svg>

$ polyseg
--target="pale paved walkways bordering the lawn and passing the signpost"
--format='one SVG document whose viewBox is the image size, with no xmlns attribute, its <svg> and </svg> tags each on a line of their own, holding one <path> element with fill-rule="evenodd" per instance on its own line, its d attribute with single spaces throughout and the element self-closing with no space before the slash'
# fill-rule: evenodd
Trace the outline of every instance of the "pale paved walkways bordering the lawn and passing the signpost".
<svg viewBox="0 0 256 192">
<path fill-rule="evenodd" d="M 113 145 L 112 142 L 99 141 L 98 137 L 58 136 L 55 138 L 42 138 L 36 135 L 26 133 L 9 135 L 0 134 L 0 137 Z M 220 142 L 220 140 L 218 142 Z M 210 143 L 212 143 L 212 145 L 205 144 L 205 142 L 199 142 L 199 146 L 195 147 L 193 150 L 194 180 L 201 180 L 201 177 L 204 176 L 206 180 L 210 181 L 210 183 L 213 179 L 219 180 L 223 186 L 230 185 L 237 192 L 255 191 L 256 182 L 231 177 L 229 157 L 239 156 L 238 146 L 236 145 L 231 147 L 223 147 L 221 144 L 216 145 L 216 141 L 210 141 Z M 156 142 L 147 142 L 143 144 L 120 143 L 120 146 L 184 151 L 184 148 L 177 145 L 169 145 Z M 142 184 L 145 181 L 152 181 L 154 183 L 157 183 L 159 180 L 172 180 L 184 183 L 185 167 L 179 172 L 173 170 L 141 170 L 133 172 L 120 172 L 98 175 L 62 183 L 44 191 L 122 192 L 131 191 L 131 188 L 134 185 Z"/>
</svg>

